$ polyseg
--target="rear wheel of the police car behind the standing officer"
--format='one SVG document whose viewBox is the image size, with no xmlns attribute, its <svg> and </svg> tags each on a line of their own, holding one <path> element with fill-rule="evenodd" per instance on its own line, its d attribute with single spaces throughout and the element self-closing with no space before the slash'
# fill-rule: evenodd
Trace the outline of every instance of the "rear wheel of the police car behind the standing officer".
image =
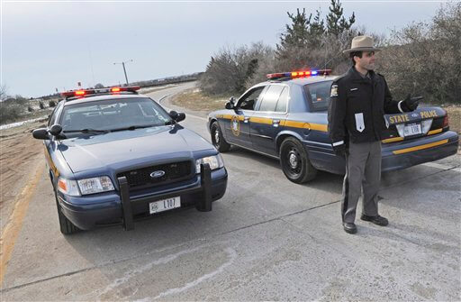
<svg viewBox="0 0 461 302">
<path fill-rule="evenodd" d="M 303 144 L 294 137 L 282 142 L 280 164 L 286 178 L 296 184 L 306 183 L 317 175 L 317 169 L 312 166 Z"/>
</svg>

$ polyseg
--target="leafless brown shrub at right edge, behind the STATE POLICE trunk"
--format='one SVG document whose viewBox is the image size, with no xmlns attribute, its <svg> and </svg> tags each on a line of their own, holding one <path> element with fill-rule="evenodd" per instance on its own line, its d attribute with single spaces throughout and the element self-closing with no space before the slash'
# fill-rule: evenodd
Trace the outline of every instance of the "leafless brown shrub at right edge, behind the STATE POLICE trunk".
<svg viewBox="0 0 461 302">
<path fill-rule="evenodd" d="M 395 98 L 408 93 L 435 104 L 461 103 L 461 3 L 442 5 L 431 23 L 393 32 L 379 68 Z"/>
</svg>

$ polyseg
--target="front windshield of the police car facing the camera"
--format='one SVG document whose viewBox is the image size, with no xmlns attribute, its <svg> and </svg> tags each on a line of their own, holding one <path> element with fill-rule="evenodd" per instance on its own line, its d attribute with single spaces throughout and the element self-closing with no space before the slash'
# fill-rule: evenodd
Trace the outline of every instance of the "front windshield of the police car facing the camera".
<svg viewBox="0 0 461 302">
<path fill-rule="evenodd" d="M 171 123 L 169 114 L 147 97 L 65 105 L 59 120 L 63 133 L 92 134 Z"/>
</svg>

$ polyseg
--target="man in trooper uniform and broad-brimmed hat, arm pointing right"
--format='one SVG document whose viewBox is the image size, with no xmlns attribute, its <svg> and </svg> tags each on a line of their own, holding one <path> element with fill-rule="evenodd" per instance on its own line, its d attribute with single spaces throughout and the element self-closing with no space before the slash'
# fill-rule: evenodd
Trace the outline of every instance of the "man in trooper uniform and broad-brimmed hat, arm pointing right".
<svg viewBox="0 0 461 302">
<path fill-rule="evenodd" d="M 341 204 L 342 224 L 347 233 L 357 233 L 356 208 L 363 188 L 361 219 L 385 226 L 378 214 L 377 193 L 381 181 L 381 140 L 388 127 L 384 114 L 409 112 L 418 100 L 407 96 L 393 101 L 384 76 L 375 73 L 373 38 L 357 36 L 349 55 L 352 67 L 331 85 L 329 134 L 335 153 L 346 159 Z"/>
</svg>

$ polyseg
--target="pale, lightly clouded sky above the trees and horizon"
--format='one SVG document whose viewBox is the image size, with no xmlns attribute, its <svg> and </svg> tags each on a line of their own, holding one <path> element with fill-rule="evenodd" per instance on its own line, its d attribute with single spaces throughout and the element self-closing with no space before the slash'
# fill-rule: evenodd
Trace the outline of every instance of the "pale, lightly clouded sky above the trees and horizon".
<svg viewBox="0 0 461 302">
<path fill-rule="evenodd" d="M 96 83 L 204 71 L 222 46 L 263 41 L 275 46 L 287 11 L 328 13 L 328 1 L 14 2 L 2 0 L 1 83 L 10 95 L 42 96 Z M 429 21 L 441 2 L 343 1 L 348 17 L 370 32 L 389 33 Z M 274 70 L 277 71 L 277 70 Z M 284 70 L 278 70 L 284 71 Z"/>
</svg>

